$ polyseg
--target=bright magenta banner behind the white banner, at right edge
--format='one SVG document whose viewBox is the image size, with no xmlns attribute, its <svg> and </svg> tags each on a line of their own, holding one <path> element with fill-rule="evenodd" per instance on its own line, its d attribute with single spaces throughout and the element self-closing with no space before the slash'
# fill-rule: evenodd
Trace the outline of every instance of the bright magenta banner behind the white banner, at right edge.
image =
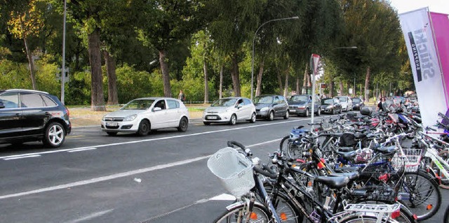
<svg viewBox="0 0 449 223">
<path fill-rule="evenodd" d="M 449 107 L 449 15 L 430 13 L 434 29 L 436 52 L 443 71 L 443 87 L 445 88 L 446 106 Z"/>
</svg>

